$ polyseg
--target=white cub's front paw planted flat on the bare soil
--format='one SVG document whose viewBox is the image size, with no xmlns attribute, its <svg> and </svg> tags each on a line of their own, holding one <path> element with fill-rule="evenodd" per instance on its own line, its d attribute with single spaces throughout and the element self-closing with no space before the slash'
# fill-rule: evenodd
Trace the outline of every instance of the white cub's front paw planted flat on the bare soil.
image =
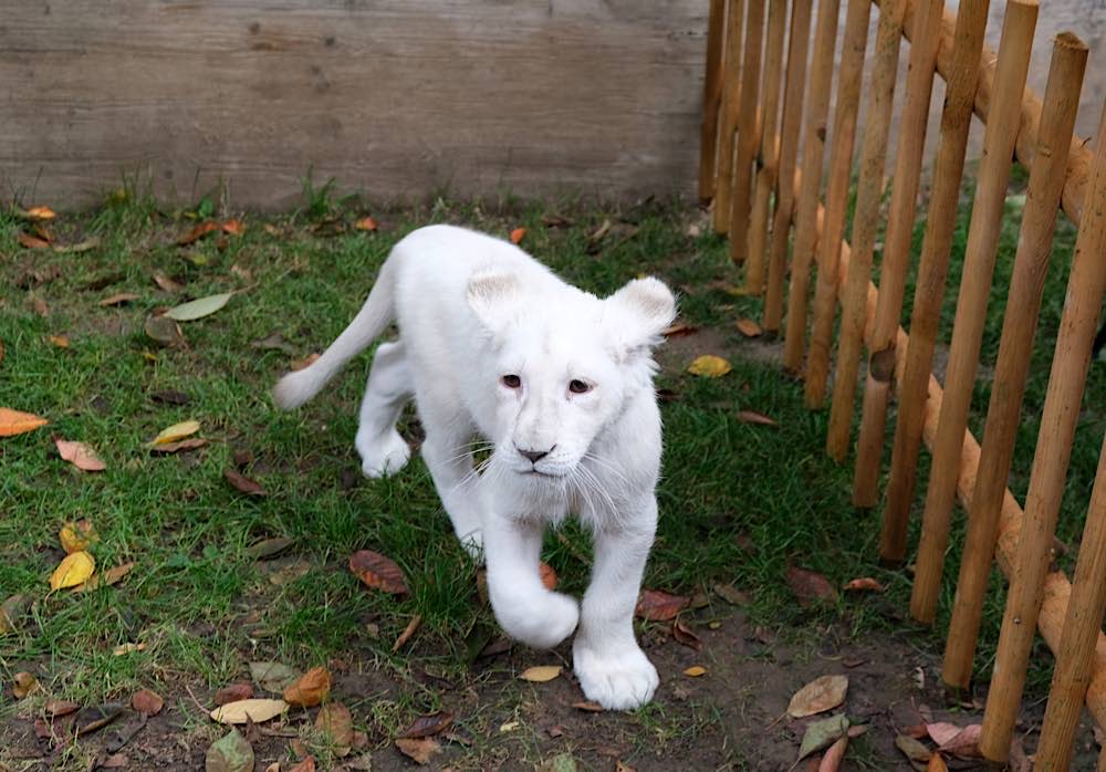
<svg viewBox="0 0 1106 772">
<path fill-rule="evenodd" d="M 636 644 L 633 648 L 598 653 L 577 639 L 572 659 L 584 696 L 607 710 L 640 708 L 653 699 L 660 684 L 657 668 Z"/>
</svg>

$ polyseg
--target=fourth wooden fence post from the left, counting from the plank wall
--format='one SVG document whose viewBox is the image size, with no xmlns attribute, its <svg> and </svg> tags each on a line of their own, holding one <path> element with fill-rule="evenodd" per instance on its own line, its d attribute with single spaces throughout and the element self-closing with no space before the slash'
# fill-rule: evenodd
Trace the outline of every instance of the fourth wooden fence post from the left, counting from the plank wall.
<svg viewBox="0 0 1106 772">
<path fill-rule="evenodd" d="M 780 82 L 783 70 L 783 33 L 786 31 L 787 0 L 769 0 L 768 48 L 764 50 L 764 84 L 761 114 L 760 168 L 757 171 L 752 211 L 749 215 L 749 244 L 745 259 L 745 291 L 759 295 L 764 290 L 764 243 L 768 240 L 769 196 L 779 168 Z"/>
</svg>

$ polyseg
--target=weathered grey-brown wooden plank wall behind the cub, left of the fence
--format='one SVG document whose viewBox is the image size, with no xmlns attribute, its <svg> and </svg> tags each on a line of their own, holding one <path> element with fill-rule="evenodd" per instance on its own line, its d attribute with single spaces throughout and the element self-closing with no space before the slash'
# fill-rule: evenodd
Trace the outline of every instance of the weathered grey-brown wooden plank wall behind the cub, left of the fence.
<svg viewBox="0 0 1106 772">
<path fill-rule="evenodd" d="M 4 196 L 692 195 L 708 3 L 3 0 Z"/>
</svg>

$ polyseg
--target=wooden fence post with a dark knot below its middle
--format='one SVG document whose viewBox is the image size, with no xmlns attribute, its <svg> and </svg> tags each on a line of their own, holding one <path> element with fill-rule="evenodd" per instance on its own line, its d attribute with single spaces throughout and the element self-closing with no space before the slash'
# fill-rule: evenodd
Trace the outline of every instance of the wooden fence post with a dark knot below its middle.
<svg viewBox="0 0 1106 772">
<path fill-rule="evenodd" d="M 887 210 L 887 231 L 879 269 L 879 298 L 873 322 L 868 374 L 864 385 L 860 438 L 856 445 L 853 503 L 875 507 L 878 497 L 880 460 L 884 451 L 887 401 L 895 374 L 895 344 L 914 231 L 922 152 L 929 122 L 929 103 L 941 39 L 943 0 L 920 0 L 910 32 L 910 64 L 906 95 L 899 119 L 899 145 L 895 157 L 895 181 Z"/>
</svg>

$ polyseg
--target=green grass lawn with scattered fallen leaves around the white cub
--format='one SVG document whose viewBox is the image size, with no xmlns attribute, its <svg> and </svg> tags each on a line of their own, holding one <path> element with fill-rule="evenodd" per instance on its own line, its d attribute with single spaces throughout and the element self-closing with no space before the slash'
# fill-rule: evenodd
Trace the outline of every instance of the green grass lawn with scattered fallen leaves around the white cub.
<svg viewBox="0 0 1106 772">
<path fill-rule="evenodd" d="M 212 210 L 210 202 L 197 208 L 200 215 Z M 349 228 L 363 213 L 356 201 L 335 202 L 325 186 L 307 187 L 299 212 L 249 216 L 242 237 L 178 247 L 176 238 L 191 227 L 196 212 L 163 212 L 150 200 L 123 195 L 95 212 L 50 226 L 60 242 L 101 240 L 80 254 L 21 250 L 15 236 L 22 221 L 10 212 L 0 217 L 0 341 L 7 352 L 0 363 L 0 407 L 51 421 L 35 432 L 0 439 L 0 599 L 17 593 L 33 598 L 19 632 L 0 638 L 0 680 L 8 684 L 15 671 L 34 669 L 53 693 L 93 702 L 126 699 L 139 686 L 177 695 L 185 687 L 212 690 L 239 678 L 250 659 L 309 667 L 345 658 L 410 687 L 398 697 L 366 693 L 349 705 L 367 717 L 374 742 L 386 742 L 415 714 L 439 708 L 439 696 L 415 671 L 467 678 L 468 649 L 490 635 L 493 620 L 477 597 L 476 567 L 451 536 L 421 461 L 416 457 L 390 479 L 359 477 L 353 437 L 368 355 L 295 413 L 275 410 L 268 389 L 290 359 L 320 351 L 348 323 L 392 244 L 435 221 L 504 236 L 524 226 L 529 251 L 597 293 L 612 292 L 638 273 L 657 273 L 680 288 L 688 322 L 718 328 L 731 353 L 744 345 L 731 322 L 757 314 L 759 301 L 716 289 L 719 280 L 733 281 L 726 244 L 710 234 L 689 236 L 692 215 L 676 205 L 623 212 L 565 205 L 572 223 L 546 227 L 542 218 L 554 211 L 553 206 L 513 204 L 488 215 L 478 205 L 439 200 L 428 209 L 374 212 L 382 230 L 362 233 Z M 619 216 L 637 230 L 612 233 L 598 253 L 589 254 L 589 234 Z M 333 231 L 335 222 L 345 232 L 316 232 L 321 223 Z M 1015 222 L 1012 209 L 998 286 L 1009 283 Z M 952 285 L 964 230 L 958 230 Z M 1015 461 L 1019 494 L 1027 480 L 1033 421 L 1043 403 L 1066 281 L 1071 228 L 1061 234 L 1067 246 L 1057 249 L 1047 279 Z M 29 271 L 46 275 L 51 269 L 58 272 L 52 281 L 35 285 L 28 280 Z M 159 290 L 152 281 L 155 272 L 184 283 L 184 291 Z M 85 289 L 116 273 L 109 286 Z M 227 307 L 184 325 L 187 347 L 159 348 L 143 333 L 146 315 L 157 306 L 231 290 L 240 294 Z M 97 304 L 123 291 L 139 298 L 119 307 Z M 1001 294 L 997 290 L 995 296 Z M 33 299 L 45 302 L 45 315 L 35 311 Z M 947 316 L 954 292 L 950 299 Z M 998 324 L 988 330 L 984 358 L 993 359 Z M 250 345 L 273 332 L 294 354 Z M 66 335 L 71 345 L 51 344 L 52 335 Z M 796 641 L 816 639 L 832 622 L 844 623 L 856 636 L 910 628 L 905 620 L 909 577 L 876 567 L 879 512 L 851 505 L 851 470 L 823 451 L 826 415 L 804 409 L 802 385 L 776 368 L 740 357 L 733 364 L 733 373 L 720 379 L 678 369 L 659 378 L 658 386 L 679 399 L 664 406 L 661 517 L 646 584 L 693 594 L 713 582 L 732 582 L 750 592 L 753 623 Z M 1106 404 L 1104 369 L 1092 373 L 1088 406 Z M 189 403 L 155 401 L 152 395 L 164 389 L 182 392 Z M 983 380 L 977 405 L 982 410 L 985 404 Z M 739 409 L 770 415 L 780 426 L 743 424 Z M 145 444 L 185 419 L 201 421 L 200 436 L 210 444 L 176 456 L 150 455 Z M 973 420 L 978 430 L 979 416 Z M 1078 538 L 1079 505 L 1089 491 L 1102 426 L 1100 410 L 1088 409 L 1062 515 L 1061 536 L 1068 542 Z M 417 435 L 413 415 L 403 429 Z M 73 469 L 58 458 L 52 435 L 91 444 L 107 470 Z M 243 471 L 264 486 L 265 498 L 248 498 L 223 480 L 236 451 L 252 455 Z M 117 587 L 49 594 L 46 580 L 62 556 L 58 530 L 81 518 L 96 528 L 100 540 L 92 552 L 101 566 L 134 561 L 136 567 Z M 294 540 L 288 555 L 275 562 L 249 556 L 251 544 L 273 536 Z M 367 591 L 346 571 L 349 553 L 363 547 L 398 562 L 409 596 Z M 570 524 L 560 536 L 550 535 L 545 560 L 563 587 L 578 593 L 588 554 L 586 533 Z M 953 547 L 948 565 L 957 564 Z M 820 571 L 838 586 L 874 575 L 888 591 L 876 601 L 843 597 L 833 607 L 805 609 L 784 581 L 790 565 Z M 950 583 L 942 603 L 946 617 Z M 1001 615 L 998 581 L 995 590 L 979 655 L 982 672 Z M 424 619 L 416 643 L 393 654 L 392 643 L 416 614 Z M 939 626 L 920 639 L 939 650 L 940 632 Z M 147 650 L 114 656 L 112 649 L 125 641 L 143 641 Z M 1047 666 L 1036 666 L 1035 672 L 1033 688 L 1039 689 Z M 13 710 L 12 703 L 0 703 L 0 720 Z M 473 734 L 488 720 L 484 713 L 466 718 Z M 695 713 L 677 719 L 656 707 L 633 720 L 662 744 L 671 732 L 693 731 L 712 719 Z M 482 752 L 479 743 L 472 752 Z"/>
</svg>

